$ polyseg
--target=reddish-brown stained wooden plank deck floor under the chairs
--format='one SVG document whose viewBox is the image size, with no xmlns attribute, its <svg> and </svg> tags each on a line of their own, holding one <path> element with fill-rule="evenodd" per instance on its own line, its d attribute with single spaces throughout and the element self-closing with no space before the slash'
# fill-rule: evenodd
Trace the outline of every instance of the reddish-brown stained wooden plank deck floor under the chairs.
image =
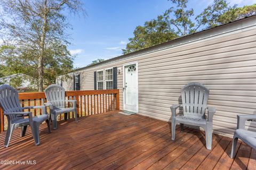
<svg viewBox="0 0 256 170">
<path fill-rule="evenodd" d="M 78 123 L 62 121 L 50 134 L 41 127 L 37 147 L 29 128 L 23 138 L 14 131 L 9 148 L 3 148 L 5 132 L 0 134 L 0 159 L 14 160 L 0 169 L 256 169 L 256 151 L 244 143 L 231 159 L 230 138 L 214 134 L 209 151 L 203 132 L 177 129 L 172 141 L 169 123 L 141 115 L 106 113 Z"/>
</svg>

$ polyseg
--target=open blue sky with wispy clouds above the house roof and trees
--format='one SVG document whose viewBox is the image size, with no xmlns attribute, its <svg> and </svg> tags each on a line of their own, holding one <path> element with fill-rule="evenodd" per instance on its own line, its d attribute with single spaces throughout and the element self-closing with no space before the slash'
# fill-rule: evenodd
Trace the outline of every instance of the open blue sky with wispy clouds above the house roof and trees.
<svg viewBox="0 0 256 170">
<path fill-rule="evenodd" d="M 72 16 L 69 20 L 70 53 L 75 55 L 74 67 L 83 67 L 98 58 L 107 60 L 122 55 L 129 38 L 138 25 L 143 25 L 171 7 L 167 0 L 81 0 L 87 16 Z M 195 14 L 213 0 L 189 0 Z M 231 6 L 252 5 L 256 0 L 228 0 Z"/>
</svg>

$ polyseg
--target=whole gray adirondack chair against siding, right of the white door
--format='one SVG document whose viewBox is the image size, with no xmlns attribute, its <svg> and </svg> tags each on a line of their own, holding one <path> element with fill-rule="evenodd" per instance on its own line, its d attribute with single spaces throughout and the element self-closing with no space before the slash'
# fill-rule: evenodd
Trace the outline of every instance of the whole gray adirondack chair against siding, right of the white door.
<svg viewBox="0 0 256 170">
<path fill-rule="evenodd" d="M 205 131 L 206 148 L 212 147 L 212 118 L 215 109 L 207 107 L 209 89 L 198 82 L 188 83 L 181 89 L 182 105 L 172 105 L 172 140 L 175 140 L 175 126 L 180 123 L 183 130 L 183 124 L 199 126 Z M 176 115 L 176 110 L 183 107 L 183 115 Z M 207 119 L 205 111 L 208 109 Z"/>
</svg>

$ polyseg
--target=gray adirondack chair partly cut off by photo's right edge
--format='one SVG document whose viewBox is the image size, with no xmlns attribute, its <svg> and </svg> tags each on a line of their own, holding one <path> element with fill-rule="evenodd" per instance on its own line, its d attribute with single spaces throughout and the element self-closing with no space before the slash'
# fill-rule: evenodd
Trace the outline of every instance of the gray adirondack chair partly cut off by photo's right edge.
<svg viewBox="0 0 256 170">
<path fill-rule="evenodd" d="M 245 130 L 245 122 L 247 120 L 256 120 L 256 115 L 237 115 L 237 129 L 235 130 L 230 157 L 235 157 L 235 150 L 238 138 L 247 145 L 256 149 L 256 132 Z"/>
</svg>

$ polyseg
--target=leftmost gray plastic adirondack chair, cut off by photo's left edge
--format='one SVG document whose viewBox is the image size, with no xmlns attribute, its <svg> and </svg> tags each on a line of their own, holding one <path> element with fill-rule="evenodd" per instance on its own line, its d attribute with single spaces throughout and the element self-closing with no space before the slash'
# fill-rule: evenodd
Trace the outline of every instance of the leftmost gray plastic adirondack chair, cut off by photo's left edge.
<svg viewBox="0 0 256 170">
<path fill-rule="evenodd" d="M 45 106 L 27 106 L 20 107 L 18 91 L 7 84 L 0 86 L 0 106 L 3 113 L 7 116 L 8 127 L 5 137 L 4 147 L 7 148 L 11 139 L 12 132 L 15 128 L 21 127 L 21 137 L 25 136 L 27 125 L 30 125 L 35 145 L 40 145 L 39 125 L 46 121 L 49 133 L 51 132 L 49 115 L 46 113 Z M 42 115 L 32 116 L 31 112 L 23 112 L 23 109 L 41 108 Z M 24 118 L 27 116 L 28 118 Z"/>
</svg>

